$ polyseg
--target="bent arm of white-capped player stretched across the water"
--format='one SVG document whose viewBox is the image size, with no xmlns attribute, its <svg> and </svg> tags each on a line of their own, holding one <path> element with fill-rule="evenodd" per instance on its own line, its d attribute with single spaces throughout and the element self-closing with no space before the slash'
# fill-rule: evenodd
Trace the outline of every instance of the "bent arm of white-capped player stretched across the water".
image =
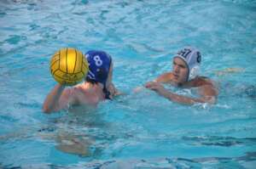
<svg viewBox="0 0 256 169">
<path fill-rule="evenodd" d="M 210 86 L 200 88 L 201 98 L 189 98 L 186 96 L 178 95 L 166 90 L 159 82 L 148 82 L 145 87 L 154 90 L 166 99 L 172 100 L 180 104 L 195 104 L 195 103 L 210 103 L 214 104 L 216 101 L 216 93 Z"/>
</svg>

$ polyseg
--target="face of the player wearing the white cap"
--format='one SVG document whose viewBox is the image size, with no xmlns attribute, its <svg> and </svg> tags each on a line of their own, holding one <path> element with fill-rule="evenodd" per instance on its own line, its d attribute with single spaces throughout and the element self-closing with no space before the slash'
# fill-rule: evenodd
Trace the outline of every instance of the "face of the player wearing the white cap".
<svg viewBox="0 0 256 169">
<path fill-rule="evenodd" d="M 174 82 L 183 83 L 188 79 L 189 69 L 183 59 L 174 58 L 172 62 L 172 74 Z"/>
</svg>

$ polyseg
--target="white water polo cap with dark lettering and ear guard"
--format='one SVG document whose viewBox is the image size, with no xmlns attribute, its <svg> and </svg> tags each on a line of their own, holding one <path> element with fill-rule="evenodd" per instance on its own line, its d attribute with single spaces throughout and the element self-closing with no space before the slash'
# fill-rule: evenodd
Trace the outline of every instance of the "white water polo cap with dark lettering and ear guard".
<svg viewBox="0 0 256 169">
<path fill-rule="evenodd" d="M 178 51 L 174 58 L 183 59 L 189 68 L 187 81 L 195 78 L 195 76 L 198 76 L 201 63 L 201 54 L 199 50 L 193 47 L 185 47 Z"/>
</svg>

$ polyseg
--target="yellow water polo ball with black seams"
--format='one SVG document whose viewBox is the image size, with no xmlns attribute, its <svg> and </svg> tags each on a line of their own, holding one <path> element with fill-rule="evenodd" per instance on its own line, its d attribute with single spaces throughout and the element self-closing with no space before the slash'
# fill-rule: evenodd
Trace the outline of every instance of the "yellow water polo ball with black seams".
<svg viewBox="0 0 256 169">
<path fill-rule="evenodd" d="M 56 82 L 73 86 L 87 76 L 89 65 L 84 54 L 75 48 L 61 48 L 50 60 L 49 70 Z"/>
</svg>

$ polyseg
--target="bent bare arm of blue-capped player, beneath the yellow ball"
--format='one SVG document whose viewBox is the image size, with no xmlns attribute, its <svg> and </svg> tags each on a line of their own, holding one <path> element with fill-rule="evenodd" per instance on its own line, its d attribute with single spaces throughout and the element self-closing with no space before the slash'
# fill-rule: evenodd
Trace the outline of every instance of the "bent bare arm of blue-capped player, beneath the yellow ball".
<svg viewBox="0 0 256 169">
<path fill-rule="evenodd" d="M 44 100 L 44 113 L 51 113 L 53 111 L 61 110 L 67 106 L 72 99 L 71 89 L 65 88 L 61 84 L 57 84 L 48 94 Z"/>
</svg>

